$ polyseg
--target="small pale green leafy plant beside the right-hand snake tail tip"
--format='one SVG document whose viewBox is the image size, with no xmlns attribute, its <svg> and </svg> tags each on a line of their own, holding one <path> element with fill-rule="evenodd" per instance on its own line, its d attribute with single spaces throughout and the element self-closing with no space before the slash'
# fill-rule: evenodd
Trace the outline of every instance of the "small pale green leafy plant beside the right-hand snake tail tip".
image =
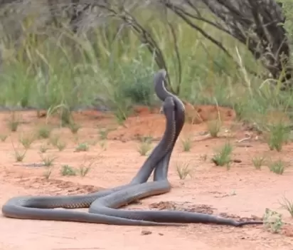
<svg viewBox="0 0 293 250">
<path fill-rule="evenodd" d="M 273 234 L 278 234 L 284 222 L 282 222 L 282 214 L 279 214 L 271 209 L 265 209 L 265 214 L 263 216 L 264 226 L 267 231 Z"/>
</svg>

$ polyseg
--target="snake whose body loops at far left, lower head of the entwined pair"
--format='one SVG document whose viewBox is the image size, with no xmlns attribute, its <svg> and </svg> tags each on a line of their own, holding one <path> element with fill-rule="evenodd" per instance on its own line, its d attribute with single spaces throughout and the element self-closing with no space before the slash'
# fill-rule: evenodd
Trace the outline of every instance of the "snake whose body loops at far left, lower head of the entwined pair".
<svg viewBox="0 0 293 250">
<path fill-rule="evenodd" d="M 172 223 L 157 223 L 148 222 L 144 220 L 137 221 L 135 219 L 125 219 L 119 217 L 107 216 L 105 214 L 95 214 L 80 211 L 70 211 L 68 209 L 88 208 L 90 204 L 100 197 L 105 197 L 113 192 L 118 192 L 122 189 L 127 189 L 134 192 L 134 196 L 140 189 L 140 185 L 149 179 L 151 172 L 154 170 L 158 162 L 162 160 L 166 153 L 167 157 L 171 156 L 174 147 L 174 137 L 176 130 L 176 121 L 174 118 L 174 102 L 172 98 L 165 98 L 164 101 L 164 114 L 166 116 L 166 129 L 163 137 L 158 145 L 151 152 L 149 157 L 144 162 L 144 165 L 137 172 L 137 175 L 129 182 L 119 187 L 112 189 L 105 189 L 100 192 L 92 194 L 70 195 L 70 196 L 38 196 L 38 197 L 13 197 L 9 199 L 2 207 L 2 214 L 4 217 L 15 219 L 44 219 L 56 221 L 70 221 L 70 222 L 88 222 L 100 224 L 118 224 L 118 225 L 141 225 L 141 226 L 156 226 L 156 225 L 173 225 Z M 177 130 L 177 134 L 180 131 Z M 169 160 L 164 160 L 161 167 L 166 168 Z M 144 197 L 156 194 L 169 192 L 169 187 L 162 187 L 161 189 L 151 191 L 146 190 Z M 127 199 L 125 199 L 127 198 Z M 115 203 L 122 205 L 128 203 L 129 197 L 118 197 Z M 63 210 L 55 208 L 65 208 Z M 179 225 L 179 224 L 176 224 Z"/>
</svg>

